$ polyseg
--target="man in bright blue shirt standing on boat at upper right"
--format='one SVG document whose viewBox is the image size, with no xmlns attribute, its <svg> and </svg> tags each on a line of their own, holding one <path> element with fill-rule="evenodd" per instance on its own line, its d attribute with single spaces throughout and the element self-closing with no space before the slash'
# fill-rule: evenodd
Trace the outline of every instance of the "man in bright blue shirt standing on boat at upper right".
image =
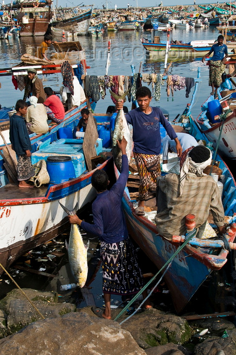
<svg viewBox="0 0 236 355">
<path fill-rule="evenodd" d="M 228 48 L 225 44 L 223 44 L 224 37 L 222 34 L 218 36 L 217 41 L 218 42 L 212 46 L 210 51 L 203 56 L 203 59 L 201 59 L 201 61 L 204 63 L 205 58 L 213 53 L 209 65 L 209 86 L 212 87 L 211 95 L 214 95 L 215 99 L 218 99 L 217 90 L 222 83 L 221 74 L 224 72 L 224 63 L 228 55 Z"/>
</svg>

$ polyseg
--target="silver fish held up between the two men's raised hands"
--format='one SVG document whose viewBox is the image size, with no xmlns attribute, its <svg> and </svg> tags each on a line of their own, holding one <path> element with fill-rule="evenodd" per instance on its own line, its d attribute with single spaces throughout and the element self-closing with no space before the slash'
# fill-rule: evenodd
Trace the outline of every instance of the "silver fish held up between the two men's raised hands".
<svg viewBox="0 0 236 355">
<path fill-rule="evenodd" d="M 128 92 L 125 92 L 122 96 L 114 94 L 114 92 L 112 92 L 111 90 L 110 90 L 110 93 L 117 101 L 121 101 L 121 100 L 125 101 L 125 96 L 127 95 Z M 132 137 L 130 134 L 130 130 L 128 128 L 127 121 L 124 116 L 124 111 L 123 111 L 123 109 L 121 109 L 121 110 L 118 110 L 118 113 L 116 116 L 115 128 L 114 128 L 114 133 L 113 133 L 113 138 L 112 138 L 113 159 L 114 159 L 117 169 L 120 172 L 121 172 L 122 154 L 121 154 L 121 150 L 118 148 L 117 140 L 121 141 L 123 136 L 125 137 L 125 139 L 127 141 L 126 154 L 127 154 L 127 158 L 129 161 L 130 156 L 131 156 L 131 152 L 132 152 Z"/>
</svg>

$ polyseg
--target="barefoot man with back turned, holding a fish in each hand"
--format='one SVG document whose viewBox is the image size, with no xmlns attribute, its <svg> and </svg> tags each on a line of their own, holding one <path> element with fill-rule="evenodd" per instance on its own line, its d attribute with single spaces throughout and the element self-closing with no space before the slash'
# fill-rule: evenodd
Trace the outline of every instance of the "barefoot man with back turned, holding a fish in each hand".
<svg viewBox="0 0 236 355">
<path fill-rule="evenodd" d="M 125 151 L 127 141 L 124 136 L 120 142 L 117 140 L 117 144 L 122 152 L 122 169 L 116 184 L 107 190 L 109 178 L 104 170 L 96 170 L 91 177 L 91 184 L 97 192 L 92 204 L 93 224 L 82 221 L 77 215 L 68 216 L 72 224 L 78 224 L 101 240 L 105 310 L 93 308 L 93 312 L 107 319 L 111 319 L 111 294 L 134 295 L 143 287 L 143 277 L 136 251 L 128 236 L 121 202 L 129 172 Z M 143 296 L 147 297 L 146 291 Z M 151 307 L 147 300 L 145 308 Z"/>
</svg>

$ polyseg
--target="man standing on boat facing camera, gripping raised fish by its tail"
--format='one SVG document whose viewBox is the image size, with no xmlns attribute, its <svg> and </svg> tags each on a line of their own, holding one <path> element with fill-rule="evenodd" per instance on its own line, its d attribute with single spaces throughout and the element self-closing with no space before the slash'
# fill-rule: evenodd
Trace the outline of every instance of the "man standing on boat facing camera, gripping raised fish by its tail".
<svg viewBox="0 0 236 355">
<path fill-rule="evenodd" d="M 126 120 L 133 127 L 133 153 L 140 175 L 139 205 L 136 214 L 144 216 L 145 201 L 155 197 L 156 178 L 160 176 L 160 150 L 161 136 L 160 123 L 168 136 L 175 140 L 178 157 L 182 148 L 174 128 L 157 107 L 151 107 L 152 94 L 146 86 L 140 87 L 136 92 L 138 109 L 129 111 Z M 116 109 L 121 110 L 123 102 L 116 102 Z"/>
</svg>

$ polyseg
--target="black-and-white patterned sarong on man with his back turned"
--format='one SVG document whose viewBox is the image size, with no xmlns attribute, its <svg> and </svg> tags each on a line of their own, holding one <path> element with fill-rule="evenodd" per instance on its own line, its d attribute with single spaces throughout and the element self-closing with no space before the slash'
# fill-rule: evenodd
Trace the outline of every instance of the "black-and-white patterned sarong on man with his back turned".
<svg viewBox="0 0 236 355">
<path fill-rule="evenodd" d="M 101 242 L 103 261 L 103 292 L 113 295 L 131 295 L 143 287 L 143 276 L 136 251 L 128 237 L 118 243 Z"/>
</svg>

